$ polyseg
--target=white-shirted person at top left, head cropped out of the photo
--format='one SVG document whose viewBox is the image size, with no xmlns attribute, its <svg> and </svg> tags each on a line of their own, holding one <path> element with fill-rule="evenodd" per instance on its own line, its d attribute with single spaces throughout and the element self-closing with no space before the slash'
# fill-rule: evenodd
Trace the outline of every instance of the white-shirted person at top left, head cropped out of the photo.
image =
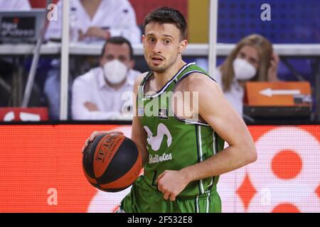
<svg viewBox="0 0 320 227">
<path fill-rule="evenodd" d="M 50 21 L 46 39 L 61 38 L 62 1 L 57 4 L 58 20 Z M 127 0 L 70 0 L 70 14 L 74 13 L 79 40 L 92 42 L 123 36 L 130 43 L 141 42 L 134 9 Z M 70 17 L 70 23 L 74 18 Z"/>
</svg>

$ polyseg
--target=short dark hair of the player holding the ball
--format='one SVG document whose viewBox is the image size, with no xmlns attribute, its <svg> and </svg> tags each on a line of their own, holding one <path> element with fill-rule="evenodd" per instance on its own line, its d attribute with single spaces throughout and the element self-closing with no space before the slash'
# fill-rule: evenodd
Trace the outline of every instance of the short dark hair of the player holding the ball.
<svg viewBox="0 0 320 227">
<path fill-rule="evenodd" d="M 187 23 L 182 13 L 169 7 L 161 7 L 151 11 L 144 18 L 144 31 L 148 23 L 172 23 L 176 25 L 181 34 L 181 40 L 186 39 Z"/>
</svg>

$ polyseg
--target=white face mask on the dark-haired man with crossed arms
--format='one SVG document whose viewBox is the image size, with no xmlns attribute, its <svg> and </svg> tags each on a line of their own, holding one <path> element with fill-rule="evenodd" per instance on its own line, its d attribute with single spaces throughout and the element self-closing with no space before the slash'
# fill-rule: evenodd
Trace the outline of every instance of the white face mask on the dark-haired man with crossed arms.
<svg viewBox="0 0 320 227">
<path fill-rule="evenodd" d="M 115 59 L 103 65 L 103 72 L 105 72 L 105 79 L 110 84 L 119 84 L 127 76 L 128 67 Z"/>
</svg>

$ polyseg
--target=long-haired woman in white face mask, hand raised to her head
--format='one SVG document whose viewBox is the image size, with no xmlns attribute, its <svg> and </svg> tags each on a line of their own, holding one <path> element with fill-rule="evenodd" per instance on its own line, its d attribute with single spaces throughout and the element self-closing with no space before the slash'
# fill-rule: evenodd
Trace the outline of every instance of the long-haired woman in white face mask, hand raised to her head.
<svg viewBox="0 0 320 227">
<path fill-rule="evenodd" d="M 244 86 L 247 81 L 277 81 L 278 55 L 262 35 L 242 38 L 222 65 L 214 79 L 220 84 L 230 104 L 242 116 Z"/>
</svg>

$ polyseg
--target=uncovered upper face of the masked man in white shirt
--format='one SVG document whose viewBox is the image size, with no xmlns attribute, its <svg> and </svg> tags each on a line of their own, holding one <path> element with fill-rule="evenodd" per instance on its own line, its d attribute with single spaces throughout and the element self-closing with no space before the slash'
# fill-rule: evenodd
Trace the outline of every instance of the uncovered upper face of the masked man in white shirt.
<svg viewBox="0 0 320 227">
<path fill-rule="evenodd" d="M 105 63 L 115 59 L 119 60 L 124 65 L 127 65 L 127 67 L 132 69 L 134 62 L 130 59 L 130 49 L 127 43 L 108 43 L 105 46 L 104 55 L 100 57 L 100 66 L 105 65 Z"/>
</svg>

